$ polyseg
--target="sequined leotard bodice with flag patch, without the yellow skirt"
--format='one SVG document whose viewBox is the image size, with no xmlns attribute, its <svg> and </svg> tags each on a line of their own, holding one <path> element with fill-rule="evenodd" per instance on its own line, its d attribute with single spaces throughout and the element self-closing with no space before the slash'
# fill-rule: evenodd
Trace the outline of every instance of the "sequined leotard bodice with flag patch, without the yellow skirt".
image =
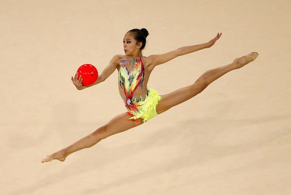
<svg viewBox="0 0 291 195">
<path fill-rule="evenodd" d="M 147 81 L 150 73 L 145 69 L 145 56 L 130 59 L 123 56 L 118 69 L 118 88 L 125 106 L 131 113 L 139 112 L 147 94 Z"/>
</svg>

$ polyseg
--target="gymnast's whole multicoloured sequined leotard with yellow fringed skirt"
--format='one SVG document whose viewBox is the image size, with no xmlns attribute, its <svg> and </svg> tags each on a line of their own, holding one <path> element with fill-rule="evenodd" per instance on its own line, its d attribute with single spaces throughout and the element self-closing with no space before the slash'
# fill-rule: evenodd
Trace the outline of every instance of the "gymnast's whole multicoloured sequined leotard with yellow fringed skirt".
<svg viewBox="0 0 291 195">
<path fill-rule="evenodd" d="M 120 60 L 118 73 L 119 93 L 124 100 L 129 119 L 149 120 L 157 115 L 156 106 L 162 97 L 156 90 L 147 89 L 150 73 L 145 69 L 146 57 L 130 59 L 124 56 Z"/>
</svg>

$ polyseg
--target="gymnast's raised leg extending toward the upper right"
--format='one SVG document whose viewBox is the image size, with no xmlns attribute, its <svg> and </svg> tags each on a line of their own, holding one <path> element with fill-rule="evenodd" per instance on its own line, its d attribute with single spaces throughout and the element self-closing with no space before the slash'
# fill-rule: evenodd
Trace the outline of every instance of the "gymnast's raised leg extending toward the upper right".
<svg viewBox="0 0 291 195">
<path fill-rule="evenodd" d="M 162 95 L 162 100 L 156 107 L 157 113 L 161 114 L 171 107 L 193 98 L 195 95 L 202 92 L 214 80 L 218 79 L 222 75 L 225 75 L 229 71 L 242 68 L 244 65 L 254 61 L 258 55 L 259 54 L 257 52 L 252 52 L 242 56 L 241 58 L 236 58 L 230 64 L 206 71 L 195 81 L 194 84 Z"/>
</svg>

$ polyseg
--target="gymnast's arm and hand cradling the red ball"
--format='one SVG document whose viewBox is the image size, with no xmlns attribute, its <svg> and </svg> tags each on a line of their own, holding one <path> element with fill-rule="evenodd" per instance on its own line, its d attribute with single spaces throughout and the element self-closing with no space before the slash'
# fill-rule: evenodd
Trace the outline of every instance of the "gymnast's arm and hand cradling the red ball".
<svg viewBox="0 0 291 195">
<path fill-rule="evenodd" d="M 73 76 L 71 77 L 71 80 L 73 84 L 76 86 L 78 90 L 83 90 L 85 88 L 91 87 L 93 85 L 97 85 L 98 83 L 101 83 L 106 80 L 116 69 L 119 60 L 121 58 L 121 55 L 115 55 L 113 56 L 112 60 L 109 62 L 109 65 L 105 67 L 105 69 L 102 71 L 102 73 L 98 76 L 98 79 L 93 83 L 92 85 L 84 86 L 81 84 L 82 82 L 82 77 L 79 77 L 78 80 L 78 73 L 75 74 L 74 78 Z"/>
</svg>

